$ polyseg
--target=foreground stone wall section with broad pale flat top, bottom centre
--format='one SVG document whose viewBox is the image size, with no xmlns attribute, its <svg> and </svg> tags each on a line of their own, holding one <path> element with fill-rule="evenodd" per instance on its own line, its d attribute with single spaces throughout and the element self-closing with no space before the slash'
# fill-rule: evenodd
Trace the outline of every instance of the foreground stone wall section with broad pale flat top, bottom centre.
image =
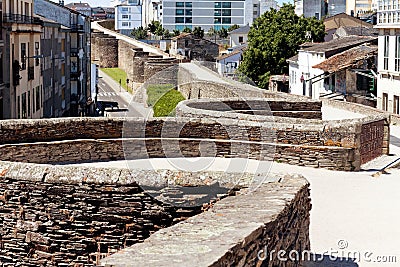
<svg viewBox="0 0 400 267">
<path fill-rule="evenodd" d="M 102 265 L 301 266 L 300 261 L 279 261 L 276 253 L 284 250 L 287 257 L 310 249 L 310 209 L 308 182 L 288 175 L 251 194 L 225 198 L 103 259 Z"/>
</svg>

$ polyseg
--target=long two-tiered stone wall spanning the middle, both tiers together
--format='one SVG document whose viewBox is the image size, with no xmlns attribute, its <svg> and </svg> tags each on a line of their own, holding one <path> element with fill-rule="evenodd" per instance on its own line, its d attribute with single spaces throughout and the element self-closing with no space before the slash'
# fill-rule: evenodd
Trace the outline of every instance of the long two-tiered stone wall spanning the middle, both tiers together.
<svg viewBox="0 0 400 267">
<path fill-rule="evenodd" d="M 271 160 L 275 156 L 280 162 L 346 171 L 360 168 L 362 125 L 368 123 L 358 119 L 347 124 L 302 125 L 218 118 L 14 122 L 0 122 L 1 160 L 79 162 L 182 154 Z"/>
</svg>

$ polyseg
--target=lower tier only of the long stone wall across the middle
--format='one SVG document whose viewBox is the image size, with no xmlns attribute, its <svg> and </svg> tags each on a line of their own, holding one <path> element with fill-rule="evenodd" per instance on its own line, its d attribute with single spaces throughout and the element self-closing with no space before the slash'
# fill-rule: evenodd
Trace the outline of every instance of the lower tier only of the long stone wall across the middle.
<svg viewBox="0 0 400 267">
<path fill-rule="evenodd" d="M 74 140 L 0 146 L 0 160 L 42 164 L 202 156 L 276 160 L 345 171 L 359 169 L 357 153 L 354 148 L 345 147 L 158 138 Z"/>
</svg>

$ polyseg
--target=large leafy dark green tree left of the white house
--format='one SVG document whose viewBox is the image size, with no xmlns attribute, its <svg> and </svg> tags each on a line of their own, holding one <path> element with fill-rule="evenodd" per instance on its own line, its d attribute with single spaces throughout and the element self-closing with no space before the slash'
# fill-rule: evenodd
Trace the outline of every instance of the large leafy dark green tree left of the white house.
<svg viewBox="0 0 400 267">
<path fill-rule="evenodd" d="M 265 12 L 250 28 L 248 48 L 239 71 L 259 87 L 267 88 L 269 77 L 288 73 L 286 59 L 297 54 L 300 44 L 311 41 L 307 40 L 307 32 L 311 34 L 311 40 L 323 41 L 323 21 L 297 16 L 290 4 L 284 4 L 279 11 Z"/>
</svg>

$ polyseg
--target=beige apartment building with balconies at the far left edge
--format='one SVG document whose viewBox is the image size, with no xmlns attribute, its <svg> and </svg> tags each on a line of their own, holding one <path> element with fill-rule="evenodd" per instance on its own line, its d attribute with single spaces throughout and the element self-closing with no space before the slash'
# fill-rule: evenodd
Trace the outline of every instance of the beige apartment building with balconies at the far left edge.
<svg viewBox="0 0 400 267">
<path fill-rule="evenodd" d="M 41 20 L 34 16 L 32 0 L 6 0 L 2 6 L 5 31 L 2 118 L 41 118 Z"/>
</svg>

